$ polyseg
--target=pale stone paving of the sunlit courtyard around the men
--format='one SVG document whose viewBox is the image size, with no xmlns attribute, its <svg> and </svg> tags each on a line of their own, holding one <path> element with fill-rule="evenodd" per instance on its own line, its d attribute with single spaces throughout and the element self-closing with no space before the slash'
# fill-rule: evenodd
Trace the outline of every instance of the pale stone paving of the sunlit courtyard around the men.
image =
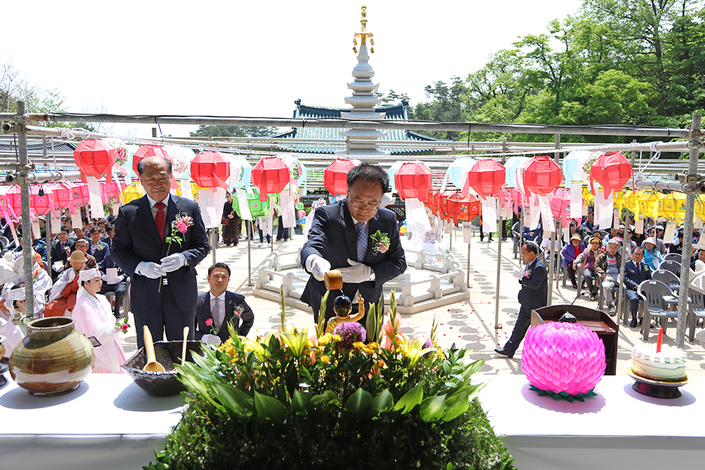
<svg viewBox="0 0 705 470">
<path fill-rule="evenodd" d="M 302 242 L 303 237 L 297 235 L 294 240 L 289 242 L 275 242 L 274 250 L 292 252 L 300 247 Z M 257 245 L 258 243 L 255 241 L 251 245 L 253 283 L 257 265 L 270 250 L 269 248 L 258 248 Z M 453 255 L 460 262 L 460 265 L 465 268 L 467 266 L 467 244 L 462 242 L 462 233 L 460 231 L 458 231 L 452 245 Z M 484 373 L 521 374 L 521 348 L 513 359 L 501 357 L 494 352 L 494 348 L 498 345 L 503 345 L 509 335 L 511 335 L 519 311 L 517 302 L 519 286 L 511 275 L 513 269 L 519 267 L 519 260 L 514 259 L 513 245 L 511 240 L 508 240 L 502 244 L 498 321 L 501 328 L 495 328 L 497 249 L 498 242 L 496 240 L 489 244 L 486 241 L 480 242 L 477 236 L 474 237 L 470 250 L 470 299 L 439 309 L 403 315 L 403 320 L 406 323 L 403 330 L 407 333 L 428 335 L 435 315 L 440 321 L 438 336 L 443 346 L 450 346 L 455 343 L 457 347 L 473 349 L 471 357 L 473 359 L 484 359 L 485 361 L 482 368 Z M 248 285 L 247 240 L 240 240 L 238 247 L 219 246 L 216 249 L 216 259 L 227 263 L 233 270 L 230 290 L 245 295 L 247 303 L 255 311 L 255 325 L 250 332 L 250 337 L 276 328 L 280 323 L 281 307 L 276 302 L 260 299 L 252 295 L 252 287 Z M 207 259 L 202 261 L 198 267 L 200 292 L 207 290 L 207 267 L 212 262 L 212 254 L 209 254 Z M 554 281 L 553 304 L 570 304 L 575 295 L 576 292 L 570 285 L 567 288 L 558 287 L 556 289 Z M 597 308 L 597 302 L 590 302 L 585 295 L 578 299 L 576 304 Z M 287 307 L 286 319 L 288 323 L 294 323 L 300 328 L 307 326 L 313 328 L 313 315 L 309 312 Z M 653 334 L 649 336 L 649 342 L 656 342 L 656 330 L 651 330 L 651 333 Z M 670 345 L 675 344 L 675 322 L 670 323 L 667 333 L 663 338 L 663 342 Z M 625 361 L 630 359 L 633 345 L 639 342 L 642 342 L 639 328 L 620 326 L 618 375 L 625 374 L 623 365 Z M 137 348 L 134 330 L 131 330 L 130 333 L 123 337 L 123 346 L 128 357 L 135 352 Z M 686 338 L 684 349 L 688 353 L 689 371 L 695 376 L 705 376 L 704 348 L 698 342 L 691 343 Z"/>
</svg>

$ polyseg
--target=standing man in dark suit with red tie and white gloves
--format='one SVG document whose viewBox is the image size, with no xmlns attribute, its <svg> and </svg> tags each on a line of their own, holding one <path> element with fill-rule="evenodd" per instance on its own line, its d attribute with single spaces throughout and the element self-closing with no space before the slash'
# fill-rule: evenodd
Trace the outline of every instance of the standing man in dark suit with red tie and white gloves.
<svg viewBox="0 0 705 470">
<path fill-rule="evenodd" d="M 137 347 L 144 345 L 142 329 L 149 326 L 152 338 L 183 340 L 198 302 L 195 267 L 210 251 L 198 204 L 169 194 L 171 162 L 149 157 L 137 164 L 140 182 L 147 194 L 121 206 L 116 219 L 112 258 L 130 279 L 130 310 L 135 315 Z M 192 219 L 181 243 L 166 242 L 171 223 L 183 214 Z"/>
</svg>

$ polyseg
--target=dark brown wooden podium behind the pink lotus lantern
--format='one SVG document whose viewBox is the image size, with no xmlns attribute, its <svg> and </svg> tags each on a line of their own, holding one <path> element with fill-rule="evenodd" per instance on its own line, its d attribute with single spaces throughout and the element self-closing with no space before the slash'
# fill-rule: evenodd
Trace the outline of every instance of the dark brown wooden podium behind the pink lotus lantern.
<svg viewBox="0 0 705 470">
<path fill-rule="evenodd" d="M 617 340 L 619 338 L 619 323 L 603 311 L 581 307 L 579 305 L 549 305 L 531 311 L 531 326 L 537 326 L 547 321 L 558 321 L 560 316 L 569 311 L 575 315 L 577 323 L 586 326 L 597 333 L 605 345 L 607 366 L 606 376 L 617 375 Z"/>
</svg>

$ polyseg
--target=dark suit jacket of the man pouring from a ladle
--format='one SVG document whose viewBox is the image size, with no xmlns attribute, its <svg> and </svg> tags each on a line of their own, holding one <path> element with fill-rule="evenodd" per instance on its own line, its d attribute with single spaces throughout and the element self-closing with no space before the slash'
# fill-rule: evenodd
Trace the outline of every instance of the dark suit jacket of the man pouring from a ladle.
<svg viewBox="0 0 705 470">
<path fill-rule="evenodd" d="M 389 209 L 380 207 L 374 217 L 369 220 L 368 229 L 367 254 L 364 259 L 358 261 L 372 268 L 375 279 L 359 284 L 343 284 L 343 292 L 350 299 L 353 299 L 355 292 L 360 291 L 360 295 L 364 299 L 365 311 L 367 311 L 370 302 L 378 301 L 384 283 L 406 271 L 406 259 L 404 249 L 399 241 L 396 214 Z M 389 249 L 385 253 L 373 254 L 372 252 L 370 236 L 377 230 L 386 233 L 389 237 Z M 355 223 L 353 223 L 353 216 L 348 210 L 347 199 L 316 209 L 308 239 L 301 248 L 301 264 L 304 269 L 307 257 L 312 254 L 323 256 L 331 263 L 331 269 L 350 266 L 348 258 L 357 260 L 357 230 Z M 312 307 L 315 319 L 318 319 L 321 297 L 325 292 L 326 286 L 323 281 L 317 280 L 313 276 L 309 277 L 301 300 Z M 335 297 L 336 295 L 329 296 L 326 316 L 334 315 L 333 301 Z"/>
</svg>

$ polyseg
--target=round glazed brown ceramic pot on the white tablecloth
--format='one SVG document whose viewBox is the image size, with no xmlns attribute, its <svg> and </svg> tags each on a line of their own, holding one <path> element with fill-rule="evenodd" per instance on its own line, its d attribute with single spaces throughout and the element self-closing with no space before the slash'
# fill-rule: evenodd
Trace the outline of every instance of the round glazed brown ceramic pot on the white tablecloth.
<svg viewBox="0 0 705 470">
<path fill-rule="evenodd" d="M 95 362 L 93 345 L 64 316 L 27 325 L 27 336 L 10 356 L 10 375 L 32 395 L 53 396 L 78 388 Z"/>
</svg>

